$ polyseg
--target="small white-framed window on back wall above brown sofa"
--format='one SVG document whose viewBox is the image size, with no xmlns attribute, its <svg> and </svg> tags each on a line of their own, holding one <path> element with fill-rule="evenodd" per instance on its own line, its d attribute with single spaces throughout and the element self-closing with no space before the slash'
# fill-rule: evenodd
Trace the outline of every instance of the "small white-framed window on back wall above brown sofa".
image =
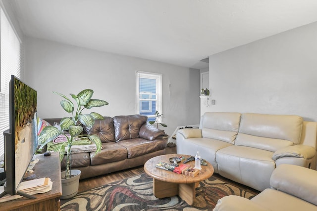
<svg viewBox="0 0 317 211">
<path fill-rule="evenodd" d="M 155 121 L 155 112 L 162 112 L 162 75 L 137 71 L 136 84 L 136 113 Z"/>
</svg>

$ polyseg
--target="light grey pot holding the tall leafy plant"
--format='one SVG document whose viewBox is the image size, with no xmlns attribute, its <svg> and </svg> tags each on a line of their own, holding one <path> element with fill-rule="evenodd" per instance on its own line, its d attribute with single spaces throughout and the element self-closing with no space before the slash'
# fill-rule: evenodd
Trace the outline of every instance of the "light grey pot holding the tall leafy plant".
<svg viewBox="0 0 317 211">
<path fill-rule="evenodd" d="M 71 170 L 71 174 L 74 176 L 63 179 L 63 177 L 65 176 L 65 171 L 61 172 L 61 199 L 73 198 L 78 193 L 81 171 L 78 169 L 73 169 Z"/>
</svg>

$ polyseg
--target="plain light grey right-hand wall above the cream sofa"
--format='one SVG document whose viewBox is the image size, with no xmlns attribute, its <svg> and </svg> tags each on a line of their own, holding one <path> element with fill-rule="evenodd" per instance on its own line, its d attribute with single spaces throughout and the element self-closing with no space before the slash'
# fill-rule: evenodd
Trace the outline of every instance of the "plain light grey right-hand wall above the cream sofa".
<svg viewBox="0 0 317 211">
<path fill-rule="evenodd" d="M 208 111 L 295 114 L 317 121 L 317 22 L 209 58 Z"/>
</svg>

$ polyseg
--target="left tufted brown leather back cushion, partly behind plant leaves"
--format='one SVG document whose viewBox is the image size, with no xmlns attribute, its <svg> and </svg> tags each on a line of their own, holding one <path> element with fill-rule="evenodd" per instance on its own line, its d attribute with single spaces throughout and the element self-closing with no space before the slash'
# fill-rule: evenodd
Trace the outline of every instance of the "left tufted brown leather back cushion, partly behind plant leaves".
<svg viewBox="0 0 317 211">
<path fill-rule="evenodd" d="M 114 127 L 113 119 L 111 117 L 104 117 L 103 120 L 95 120 L 93 127 L 88 128 L 84 126 L 85 134 L 98 135 L 101 142 L 114 142 Z"/>
</svg>

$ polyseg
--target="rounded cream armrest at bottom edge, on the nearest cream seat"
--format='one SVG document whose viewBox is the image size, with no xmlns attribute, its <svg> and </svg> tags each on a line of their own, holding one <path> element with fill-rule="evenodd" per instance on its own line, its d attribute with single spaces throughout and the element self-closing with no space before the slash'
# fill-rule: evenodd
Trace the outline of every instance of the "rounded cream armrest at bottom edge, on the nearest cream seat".
<svg viewBox="0 0 317 211">
<path fill-rule="evenodd" d="M 257 203 L 241 196 L 225 196 L 212 211 L 267 211 Z"/>
</svg>

